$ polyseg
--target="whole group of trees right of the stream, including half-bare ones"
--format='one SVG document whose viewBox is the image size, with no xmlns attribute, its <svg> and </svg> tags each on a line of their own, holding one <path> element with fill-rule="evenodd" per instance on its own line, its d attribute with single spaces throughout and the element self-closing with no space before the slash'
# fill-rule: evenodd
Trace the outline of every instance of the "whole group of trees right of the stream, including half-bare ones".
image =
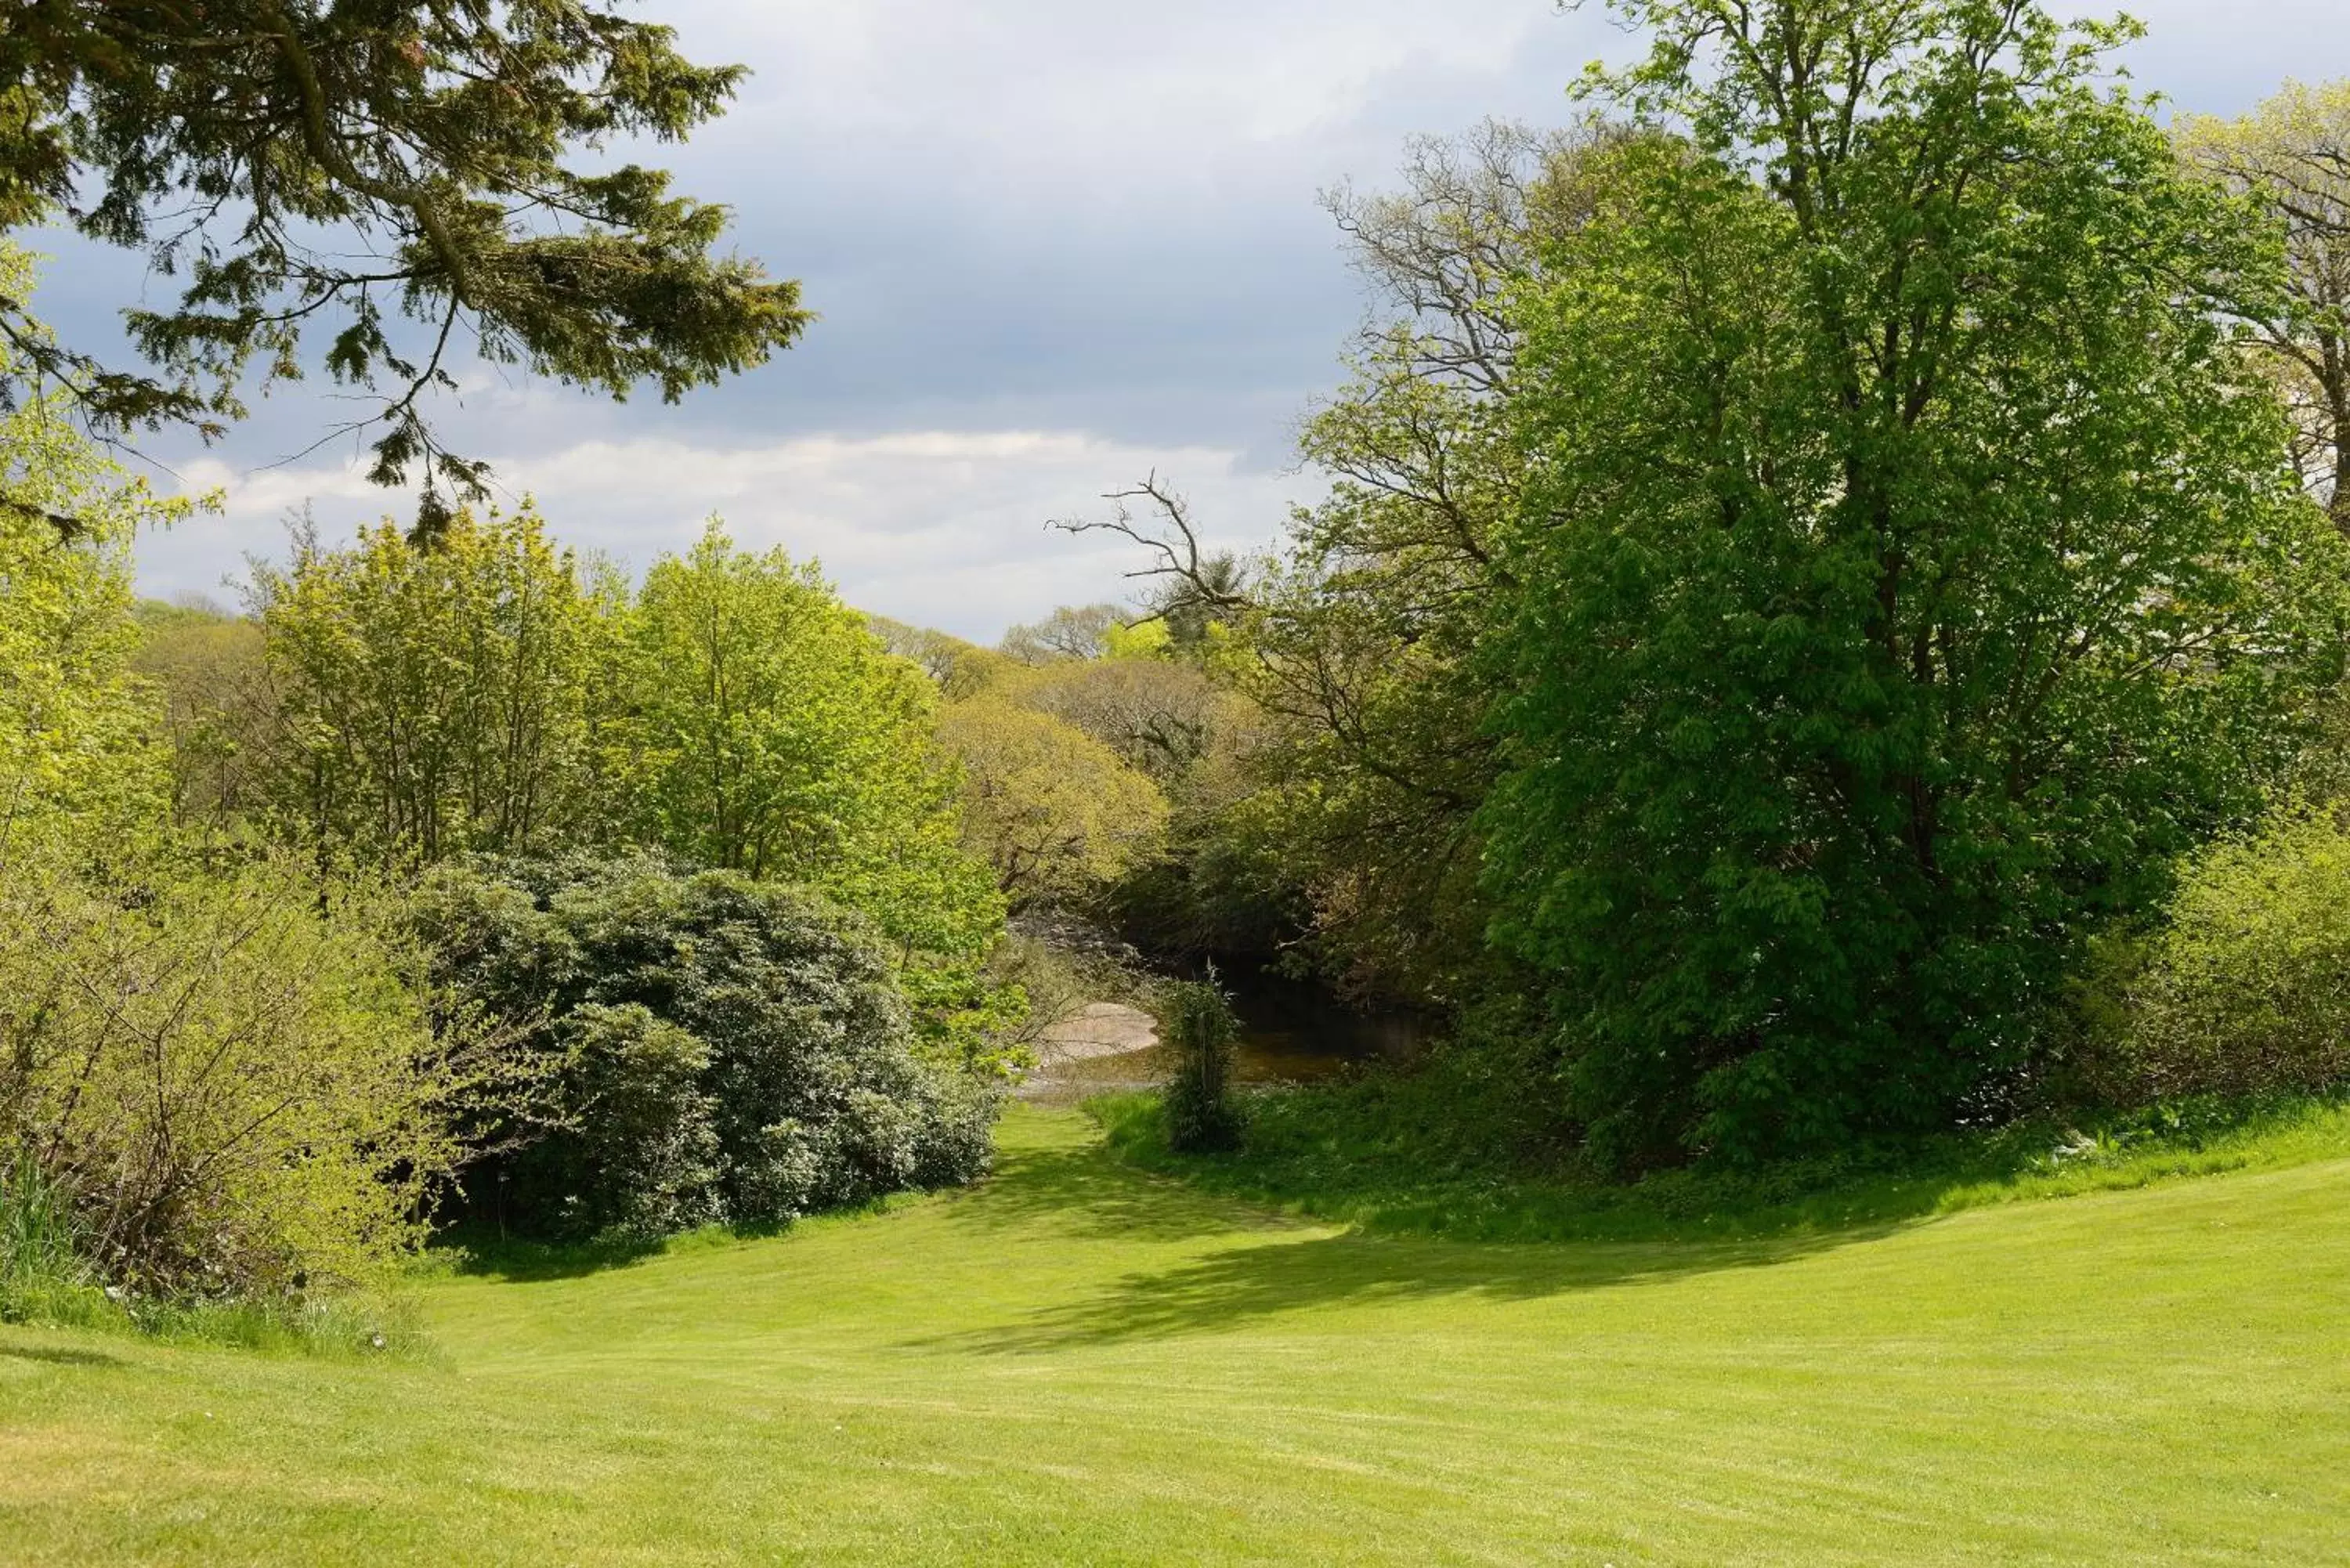
<svg viewBox="0 0 2350 1568">
<path fill-rule="evenodd" d="M 1257 715 L 1156 914 L 1448 1009 L 1614 1171 L 2329 1081 L 2214 907 L 2331 865 L 2350 89 L 2164 127 L 2127 21 L 1614 9 L 1574 127 L 1330 197 L 1386 310 L 1278 550 L 1088 524 Z M 2188 1053 L 2230 1006 L 2303 1044 Z"/>
</svg>

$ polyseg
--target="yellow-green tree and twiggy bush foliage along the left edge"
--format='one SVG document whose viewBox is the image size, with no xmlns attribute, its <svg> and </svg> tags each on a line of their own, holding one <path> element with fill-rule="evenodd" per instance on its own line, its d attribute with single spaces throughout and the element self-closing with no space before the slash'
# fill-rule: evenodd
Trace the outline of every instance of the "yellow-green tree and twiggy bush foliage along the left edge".
<svg viewBox="0 0 2350 1568">
<path fill-rule="evenodd" d="M 9 259 L 24 282 L 21 259 Z M 435 1039 L 381 900 L 162 835 L 129 543 L 176 508 L 35 402 L 0 418 L 0 1166 L 47 1246 L 136 1291 L 374 1276 L 451 1164 L 477 1063 Z M 54 515 L 78 520 L 59 538 Z M 49 1260 L 59 1265 L 59 1258 Z M 49 1265 L 42 1265 L 49 1267 Z"/>
</svg>

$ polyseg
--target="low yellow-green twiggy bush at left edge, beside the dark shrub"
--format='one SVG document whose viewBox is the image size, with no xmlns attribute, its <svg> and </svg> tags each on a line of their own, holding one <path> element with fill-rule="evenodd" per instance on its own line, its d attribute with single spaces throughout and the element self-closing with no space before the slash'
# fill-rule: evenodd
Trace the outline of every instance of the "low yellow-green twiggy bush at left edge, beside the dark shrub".
<svg viewBox="0 0 2350 1568">
<path fill-rule="evenodd" d="M 96 886 L 0 856 L 9 1225 L 134 1295 L 357 1284 L 449 1168 L 435 1044 L 383 900 L 284 858 Z"/>
</svg>

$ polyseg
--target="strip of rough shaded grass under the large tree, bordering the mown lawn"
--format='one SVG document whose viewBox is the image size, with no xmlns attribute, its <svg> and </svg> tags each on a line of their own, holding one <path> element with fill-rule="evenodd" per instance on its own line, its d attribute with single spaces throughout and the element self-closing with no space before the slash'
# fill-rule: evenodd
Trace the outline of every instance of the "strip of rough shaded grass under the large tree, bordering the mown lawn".
<svg viewBox="0 0 2350 1568">
<path fill-rule="evenodd" d="M 1168 1147 L 1156 1095 L 1086 1103 L 1128 1164 L 1283 1213 L 1466 1241 L 1734 1239 L 1882 1227 L 2021 1199 L 2350 1159 L 2350 1098 L 2190 1100 L 2026 1121 L 1760 1171 L 1600 1180 L 1539 1140 L 1466 1053 L 1250 1095 L 1231 1154 Z M 1525 1126 L 1516 1128 L 1513 1121 Z M 1464 1133 L 1476 1128 L 1476 1133 Z"/>
</svg>

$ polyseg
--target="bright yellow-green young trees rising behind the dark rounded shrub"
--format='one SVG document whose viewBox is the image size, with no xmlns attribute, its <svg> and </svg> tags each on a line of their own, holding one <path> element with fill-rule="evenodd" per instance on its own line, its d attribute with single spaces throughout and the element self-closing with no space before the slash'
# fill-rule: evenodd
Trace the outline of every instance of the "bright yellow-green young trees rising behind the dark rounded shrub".
<svg viewBox="0 0 2350 1568">
<path fill-rule="evenodd" d="M 780 550 L 712 522 L 630 592 L 531 508 L 458 510 L 428 545 L 301 534 L 254 590 L 282 693 L 244 766 L 277 827 L 383 863 L 653 846 L 825 889 L 909 959 L 971 964 L 1001 924 L 931 684 Z"/>
</svg>

